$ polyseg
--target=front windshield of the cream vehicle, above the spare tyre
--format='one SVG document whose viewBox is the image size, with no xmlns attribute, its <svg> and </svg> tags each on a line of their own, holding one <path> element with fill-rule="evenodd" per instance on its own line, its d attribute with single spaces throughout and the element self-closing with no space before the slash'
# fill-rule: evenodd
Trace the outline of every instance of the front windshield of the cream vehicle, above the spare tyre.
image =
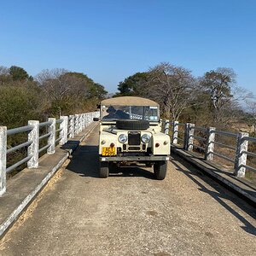
<svg viewBox="0 0 256 256">
<path fill-rule="evenodd" d="M 159 109 L 155 106 L 102 106 L 101 119 L 138 119 L 157 122 L 159 120 Z"/>
</svg>

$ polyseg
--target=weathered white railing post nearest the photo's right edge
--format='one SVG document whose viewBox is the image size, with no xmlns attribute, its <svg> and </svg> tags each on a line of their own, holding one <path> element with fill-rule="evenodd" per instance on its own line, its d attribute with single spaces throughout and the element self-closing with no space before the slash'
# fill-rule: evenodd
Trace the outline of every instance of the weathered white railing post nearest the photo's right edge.
<svg viewBox="0 0 256 256">
<path fill-rule="evenodd" d="M 245 177 L 247 165 L 247 154 L 244 154 L 248 149 L 248 141 L 244 137 L 248 137 L 247 132 L 239 132 L 236 137 L 236 158 L 235 158 L 235 172 L 236 177 Z"/>
</svg>

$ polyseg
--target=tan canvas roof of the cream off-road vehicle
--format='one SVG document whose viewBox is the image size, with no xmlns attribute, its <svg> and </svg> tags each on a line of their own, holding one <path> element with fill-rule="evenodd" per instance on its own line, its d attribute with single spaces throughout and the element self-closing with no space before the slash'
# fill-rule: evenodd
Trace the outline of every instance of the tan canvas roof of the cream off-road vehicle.
<svg viewBox="0 0 256 256">
<path fill-rule="evenodd" d="M 157 102 L 136 96 L 122 96 L 103 100 L 102 106 L 152 106 L 159 107 Z"/>
</svg>

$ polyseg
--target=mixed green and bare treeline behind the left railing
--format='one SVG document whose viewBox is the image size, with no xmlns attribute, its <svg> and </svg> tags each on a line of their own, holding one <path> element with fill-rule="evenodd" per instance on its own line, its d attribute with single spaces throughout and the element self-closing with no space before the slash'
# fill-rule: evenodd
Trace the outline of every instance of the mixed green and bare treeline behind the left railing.
<svg viewBox="0 0 256 256">
<path fill-rule="evenodd" d="M 56 68 L 33 78 L 22 67 L 0 67 L 0 125 L 13 128 L 29 119 L 92 111 L 106 94 L 84 73 Z"/>
</svg>

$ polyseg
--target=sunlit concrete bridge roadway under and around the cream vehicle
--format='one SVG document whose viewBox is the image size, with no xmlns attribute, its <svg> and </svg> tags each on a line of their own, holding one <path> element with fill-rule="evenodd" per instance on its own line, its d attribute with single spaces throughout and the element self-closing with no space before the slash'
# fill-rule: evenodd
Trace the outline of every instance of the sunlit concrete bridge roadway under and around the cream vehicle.
<svg viewBox="0 0 256 256">
<path fill-rule="evenodd" d="M 1 255 L 256 255 L 255 209 L 173 157 L 97 174 L 97 128 L 0 243 Z"/>
</svg>

